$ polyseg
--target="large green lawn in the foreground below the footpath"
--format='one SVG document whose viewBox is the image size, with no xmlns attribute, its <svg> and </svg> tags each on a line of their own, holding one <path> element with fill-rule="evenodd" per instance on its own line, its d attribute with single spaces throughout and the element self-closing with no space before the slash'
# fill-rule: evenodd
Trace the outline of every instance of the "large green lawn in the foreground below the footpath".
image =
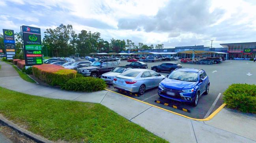
<svg viewBox="0 0 256 143">
<path fill-rule="evenodd" d="M 52 141 L 167 143 L 98 103 L 54 100 L 0 87 L 0 113 Z"/>
</svg>

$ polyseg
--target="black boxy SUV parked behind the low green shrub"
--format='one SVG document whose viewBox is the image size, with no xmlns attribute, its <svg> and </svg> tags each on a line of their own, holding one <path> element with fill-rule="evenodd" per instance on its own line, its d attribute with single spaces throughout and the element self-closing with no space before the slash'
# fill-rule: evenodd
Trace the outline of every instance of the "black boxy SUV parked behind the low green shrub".
<svg viewBox="0 0 256 143">
<path fill-rule="evenodd" d="M 110 72 L 112 69 L 118 66 L 118 60 L 94 61 L 90 67 L 82 67 L 77 69 L 77 72 L 83 74 L 83 76 L 92 76 L 97 78 L 100 77 L 101 74 Z"/>
</svg>

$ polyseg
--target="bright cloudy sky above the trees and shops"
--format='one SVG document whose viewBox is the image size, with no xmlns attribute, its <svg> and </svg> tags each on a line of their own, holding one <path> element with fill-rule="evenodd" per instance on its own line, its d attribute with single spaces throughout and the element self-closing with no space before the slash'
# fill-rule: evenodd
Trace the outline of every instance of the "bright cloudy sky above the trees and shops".
<svg viewBox="0 0 256 143">
<path fill-rule="evenodd" d="M 256 42 L 256 0 L 0 0 L 0 29 L 81 30 L 165 48 Z"/>
</svg>

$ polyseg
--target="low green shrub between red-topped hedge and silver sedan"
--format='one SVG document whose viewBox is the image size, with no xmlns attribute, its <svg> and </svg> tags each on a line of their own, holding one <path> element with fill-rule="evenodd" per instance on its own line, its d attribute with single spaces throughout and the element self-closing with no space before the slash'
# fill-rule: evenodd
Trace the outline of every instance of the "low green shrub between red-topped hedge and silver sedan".
<svg viewBox="0 0 256 143">
<path fill-rule="evenodd" d="M 102 91 L 106 87 L 106 82 L 100 78 L 79 77 L 73 78 L 61 85 L 62 89 L 68 91 Z"/>
</svg>

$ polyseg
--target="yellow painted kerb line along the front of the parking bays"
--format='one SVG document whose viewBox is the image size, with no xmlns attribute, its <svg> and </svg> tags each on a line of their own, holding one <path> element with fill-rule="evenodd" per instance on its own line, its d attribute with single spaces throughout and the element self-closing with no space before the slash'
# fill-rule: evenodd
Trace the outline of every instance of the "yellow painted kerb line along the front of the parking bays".
<svg viewBox="0 0 256 143">
<path fill-rule="evenodd" d="M 121 93 L 118 93 L 118 92 L 114 92 L 114 91 L 110 91 L 108 89 L 105 89 L 106 91 L 109 91 L 109 92 L 113 92 L 113 93 L 116 93 L 116 94 L 119 94 L 121 96 L 124 96 L 124 97 L 127 97 L 127 98 L 130 98 L 132 100 L 136 100 L 138 102 L 141 102 L 141 103 L 144 103 L 144 104 L 147 104 L 147 105 L 150 105 L 150 106 L 153 106 L 153 107 L 156 107 L 158 109 L 161 109 L 161 110 L 164 110 L 166 112 L 170 112 L 172 114 L 176 114 L 178 116 L 181 116 L 181 117 L 184 117 L 184 118 L 188 118 L 188 119 L 192 119 L 192 120 L 196 120 L 196 121 L 209 121 L 210 119 L 212 119 L 217 113 L 220 112 L 221 109 L 223 109 L 225 106 L 226 106 L 226 103 L 223 103 L 222 105 L 220 105 L 219 108 L 217 108 L 213 113 L 211 113 L 210 116 L 208 116 L 207 118 L 204 118 L 204 119 L 196 119 L 196 118 L 192 118 L 192 117 L 189 117 L 189 116 L 186 116 L 186 115 L 183 115 L 183 114 L 179 114 L 179 113 L 176 113 L 174 111 L 171 111 L 171 110 L 167 110 L 167 109 L 164 109 L 164 108 L 161 108 L 159 106 L 156 106 L 156 105 L 153 105 L 153 104 L 150 104 L 150 103 L 147 103 L 147 102 L 144 102 L 144 101 L 141 101 L 141 100 L 138 100 L 138 99 L 135 99 L 135 98 L 132 98 L 130 96 L 126 96 L 124 94 L 121 94 Z"/>
</svg>

